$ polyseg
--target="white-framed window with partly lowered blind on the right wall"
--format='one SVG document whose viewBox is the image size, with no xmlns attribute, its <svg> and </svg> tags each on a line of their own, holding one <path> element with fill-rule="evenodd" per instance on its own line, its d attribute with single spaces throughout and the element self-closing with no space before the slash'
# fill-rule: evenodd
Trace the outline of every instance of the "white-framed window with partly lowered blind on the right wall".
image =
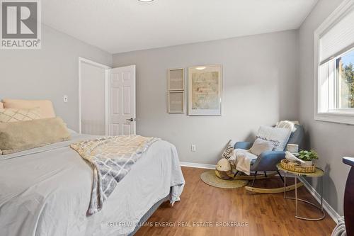
<svg viewBox="0 0 354 236">
<path fill-rule="evenodd" d="M 314 119 L 354 124 L 354 0 L 314 33 Z"/>
</svg>

